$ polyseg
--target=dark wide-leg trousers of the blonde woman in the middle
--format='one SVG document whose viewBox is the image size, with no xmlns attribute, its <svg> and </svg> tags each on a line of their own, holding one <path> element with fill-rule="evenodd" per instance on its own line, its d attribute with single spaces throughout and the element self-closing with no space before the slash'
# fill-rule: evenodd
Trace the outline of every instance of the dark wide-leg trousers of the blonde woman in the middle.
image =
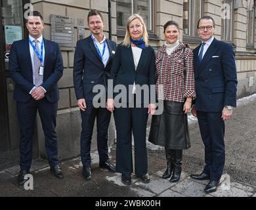
<svg viewBox="0 0 256 210">
<path fill-rule="evenodd" d="M 138 177 L 145 175 L 148 171 L 146 152 L 148 108 L 115 108 L 114 117 L 117 133 L 116 171 L 126 175 L 133 172 L 133 132 L 135 144 L 135 175 Z"/>
</svg>

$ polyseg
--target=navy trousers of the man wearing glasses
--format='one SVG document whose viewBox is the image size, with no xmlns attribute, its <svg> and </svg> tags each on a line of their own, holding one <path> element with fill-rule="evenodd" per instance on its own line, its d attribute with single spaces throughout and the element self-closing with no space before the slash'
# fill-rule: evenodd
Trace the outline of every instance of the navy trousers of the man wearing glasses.
<svg viewBox="0 0 256 210">
<path fill-rule="evenodd" d="M 225 162 L 224 121 L 221 112 L 196 112 L 200 133 L 205 146 L 203 173 L 211 180 L 221 179 Z"/>
</svg>

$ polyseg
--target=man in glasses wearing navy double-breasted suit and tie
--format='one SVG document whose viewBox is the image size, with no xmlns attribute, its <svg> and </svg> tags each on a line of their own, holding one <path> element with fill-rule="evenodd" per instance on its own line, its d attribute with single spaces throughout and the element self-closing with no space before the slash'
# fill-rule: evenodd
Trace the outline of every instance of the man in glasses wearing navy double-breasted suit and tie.
<svg viewBox="0 0 256 210">
<path fill-rule="evenodd" d="M 192 114 L 198 117 L 200 133 L 205 146 L 205 167 L 192 179 L 207 180 L 206 193 L 215 192 L 223 173 L 224 121 L 236 107 L 236 63 L 233 47 L 215 39 L 215 22 L 211 16 L 198 21 L 201 45 L 194 49 L 196 100 Z"/>
</svg>

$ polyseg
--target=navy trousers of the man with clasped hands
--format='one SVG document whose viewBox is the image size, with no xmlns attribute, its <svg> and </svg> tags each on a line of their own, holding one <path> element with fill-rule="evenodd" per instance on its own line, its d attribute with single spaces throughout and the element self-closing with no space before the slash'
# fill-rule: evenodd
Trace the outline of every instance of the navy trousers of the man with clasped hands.
<svg viewBox="0 0 256 210">
<path fill-rule="evenodd" d="M 45 134 L 45 149 L 49 164 L 59 164 L 58 142 L 56 137 L 56 115 L 58 102 L 50 103 L 47 98 L 39 101 L 31 98 L 28 102 L 17 102 L 18 121 L 20 123 L 20 169 L 29 170 L 32 163 L 32 138 L 35 129 L 35 116 L 39 112 L 43 132 Z"/>
</svg>

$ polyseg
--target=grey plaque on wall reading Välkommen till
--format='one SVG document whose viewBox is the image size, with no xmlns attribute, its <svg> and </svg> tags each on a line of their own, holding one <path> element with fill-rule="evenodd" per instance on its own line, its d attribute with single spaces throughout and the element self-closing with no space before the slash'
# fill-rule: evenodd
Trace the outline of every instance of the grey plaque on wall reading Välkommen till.
<svg viewBox="0 0 256 210">
<path fill-rule="evenodd" d="M 51 14 L 51 40 L 58 43 L 60 48 L 74 51 L 74 18 Z"/>
</svg>

